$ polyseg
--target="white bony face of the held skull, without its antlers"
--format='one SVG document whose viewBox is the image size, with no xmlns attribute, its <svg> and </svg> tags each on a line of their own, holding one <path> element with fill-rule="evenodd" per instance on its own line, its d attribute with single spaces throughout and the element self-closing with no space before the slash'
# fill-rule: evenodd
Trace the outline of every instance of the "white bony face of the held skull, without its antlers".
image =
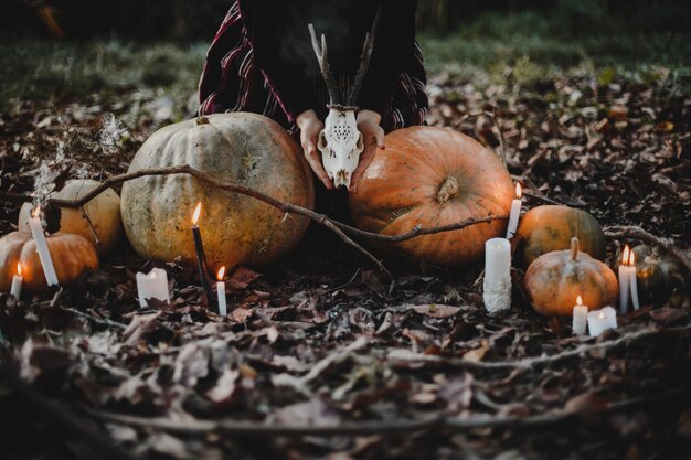
<svg viewBox="0 0 691 460">
<path fill-rule="evenodd" d="M 360 153 L 364 150 L 362 132 L 355 124 L 355 110 L 329 109 L 317 147 L 321 152 L 323 169 L 333 185 L 349 188 L 352 173 L 360 162 Z"/>
</svg>

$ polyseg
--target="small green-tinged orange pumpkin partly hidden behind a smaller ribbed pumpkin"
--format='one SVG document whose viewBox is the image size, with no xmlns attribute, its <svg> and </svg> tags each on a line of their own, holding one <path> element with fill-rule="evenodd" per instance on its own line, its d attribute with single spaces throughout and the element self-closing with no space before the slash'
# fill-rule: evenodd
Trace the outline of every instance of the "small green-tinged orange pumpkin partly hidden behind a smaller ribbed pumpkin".
<svg viewBox="0 0 691 460">
<path fill-rule="evenodd" d="M 568 206 L 544 205 L 528 211 L 511 244 L 519 263 L 528 267 L 543 254 L 568 249 L 571 238 L 578 238 L 580 250 L 591 257 L 604 260 L 607 256 L 607 239 L 595 217 Z"/>
</svg>

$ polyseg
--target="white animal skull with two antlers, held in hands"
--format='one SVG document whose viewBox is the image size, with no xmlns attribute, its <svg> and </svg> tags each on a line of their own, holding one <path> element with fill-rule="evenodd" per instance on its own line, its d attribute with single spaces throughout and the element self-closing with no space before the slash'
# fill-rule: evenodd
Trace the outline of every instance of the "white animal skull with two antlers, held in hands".
<svg viewBox="0 0 691 460">
<path fill-rule="evenodd" d="M 321 152 L 323 169 L 333 181 L 336 188 L 341 185 L 346 188 L 350 186 L 352 173 L 358 168 L 360 161 L 360 153 L 364 150 L 362 133 L 358 130 L 355 121 L 355 113 L 358 111 L 355 104 L 360 87 L 362 86 L 362 82 L 364 81 L 370 65 L 379 17 L 380 10 L 378 9 L 372 30 L 364 39 L 362 55 L 360 56 L 360 68 L 355 74 L 352 85 L 350 85 L 344 104 L 341 88 L 337 85 L 329 67 L 327 40 L 322 34 L 320 45 L 317 40 L 317 34 L 315 33 L 315 26 L 312 24 L 308 25 L 312 39 L 312 47 L 315 49 L 319 68 L 321 69 L 321 76 L 327 84 L 327 90 L 329 93 L 329 104 L 327 105 L 329 114 L 323 124 L 325 128 L 319 133 L 317 147 Z"/>
</svg>

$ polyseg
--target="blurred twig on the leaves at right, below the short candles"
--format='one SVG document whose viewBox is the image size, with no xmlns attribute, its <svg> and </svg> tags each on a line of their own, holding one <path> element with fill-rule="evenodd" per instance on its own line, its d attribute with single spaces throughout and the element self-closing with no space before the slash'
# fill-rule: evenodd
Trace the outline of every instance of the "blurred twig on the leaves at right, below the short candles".
<svg viewBox="0 0 691 460">
<path fill-rule="evenodd" d="M 465 367 L 465 368 L 481 368 L 481 370 L 511 370 L 511 368 L 530 368 L 536 365 L 552 364 L 559 361 L 564 361 L 571 357 L 580 356 L 584 353 L 588 353 L 596 350 L 608 350 L 619 346 L 621 344 L 630 343 L 636 340 L 645 339 L 650 335 L 656 335 L 660 332 L 687 332 L 691 330 L 691 325 L 687 325 L 683 328 L 669 328 L 669 329 L 658 329 L 658 328 L 647 328 L 641 329 L 628 334 L 624 334 L 620 338 L 615 340 L 610 340 L 607 342 L 598 342 L 593 344 L 583 344 L 576 346 L 572 350 L 566 350 L 561 353 L 556 353 L 553 355 L 546 356 L 534 356 L 534 357 L 525 357 L 522 360 L 515 361 L 470 361 L 464 359 L 454 359 L 454 357 L 444 357 L 437 355 L 427 355 L 427 354 L 411 354 L 407 350 L 404 352 L 398 352 L 396 350 L 392 350 L 389 352 L 386 356 L 386 361 L 389 362 L 398 362 L 398 363 L 430 363 L 443 366 L 451 366 L 451 367 Z"/>
</svg>

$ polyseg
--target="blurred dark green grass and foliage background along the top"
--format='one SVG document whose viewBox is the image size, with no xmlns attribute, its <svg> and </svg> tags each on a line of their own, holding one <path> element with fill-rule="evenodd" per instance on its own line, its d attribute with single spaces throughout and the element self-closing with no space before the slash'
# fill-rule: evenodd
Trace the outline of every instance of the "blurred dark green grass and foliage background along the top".
<svg viewBox="0 0 691 460">
<path fill-rule="evenodd" d="M 142 84 L 173 93 L 178 87 L 188 97 L 231 3 L 0 0 L 0 105 L 11 97 Z M 688 78 L 690 24 L 688 0 L 419 0 L 418 6 L 418 40 L 430 73 L 475 78 L 479 71 L 519 83 L 583 67 L 604 79 L 641 68 L 655 74 L 658 66 Z"/>
</svg>

